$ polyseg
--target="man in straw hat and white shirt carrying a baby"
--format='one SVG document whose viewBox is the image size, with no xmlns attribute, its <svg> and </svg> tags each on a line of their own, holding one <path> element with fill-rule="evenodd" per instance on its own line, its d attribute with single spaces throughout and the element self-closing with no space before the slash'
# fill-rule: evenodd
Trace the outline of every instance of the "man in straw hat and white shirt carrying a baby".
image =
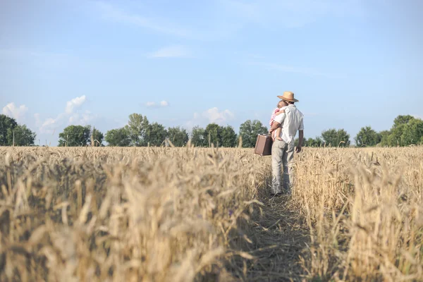
<svg viewBox="0 0 423 282">
<path fill-rule="evenodd" d="M 273 125 L 269 130 L 271 134 L 276 128 L 282 125 L 281 139 L 275 140 L 271 147 L 271 169 L 272 169 L 272 186 L 271 195 L 281 195 L 281 164 L 283 164 L 283 190 L 290 193 L 293 183 L 293 159 L 294 159 L 294 140 L 297 131 L 299 131 L 299 142 L 296 149 L 297 153 L 301 152 L 302 139 L 304 137 L 304 116 L 298 111 L 293 92 L 283 92 L 283 96 L 278 98 L 285 101 L 288 106 L 284 114 L 276 116 Z"/>
</svg>

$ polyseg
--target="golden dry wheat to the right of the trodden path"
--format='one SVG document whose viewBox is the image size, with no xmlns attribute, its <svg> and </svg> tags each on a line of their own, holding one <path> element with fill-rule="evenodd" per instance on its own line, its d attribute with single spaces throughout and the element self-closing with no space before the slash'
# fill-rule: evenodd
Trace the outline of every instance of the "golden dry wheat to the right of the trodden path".
<svg viewBox="0 0 423 282">
<path fill-rule="evenodd" d="M 309 150 L 293 203 L 317 281 L 423 281 L 423 147 Z"/>
</svg>

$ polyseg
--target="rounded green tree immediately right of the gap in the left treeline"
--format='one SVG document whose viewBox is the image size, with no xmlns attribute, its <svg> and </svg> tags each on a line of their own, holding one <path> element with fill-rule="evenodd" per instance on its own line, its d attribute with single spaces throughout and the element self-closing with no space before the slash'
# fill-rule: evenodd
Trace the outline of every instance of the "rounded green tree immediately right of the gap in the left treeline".
<svg viewBox="0 0 423 282">
<path fill-rule="evenodd" d="M 91 126 L 69 125 L 59 133 L 59 146 L 78 147 L 90 144 Z"/>
</svg>

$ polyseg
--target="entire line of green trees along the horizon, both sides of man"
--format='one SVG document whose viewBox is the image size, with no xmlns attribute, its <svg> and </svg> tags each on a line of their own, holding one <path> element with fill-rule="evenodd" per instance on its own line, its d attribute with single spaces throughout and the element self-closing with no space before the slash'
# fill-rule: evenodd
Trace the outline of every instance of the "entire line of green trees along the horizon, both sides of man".
<svg viewBox="0 0 423 282">
<path fill-rule="evenodd" d="M 266 134 L 268 129 L 260 121 L 245 121 L 240 125 L 239 133 L 231 125 L 221 126 L 210 123 L 206 128 L 195 126 L 191 133 L 179 126 L 165 128 L 160 123 L 150 123 L 147 116 L 131 114 L 128 124 L 122 128 L 108 130 L 104 135 L 91 125 L 69 125 L 59 133 L 59 146 L 109 146 L 145 147 L 171 144 L 183 147 L 190 140 L 196 147 L 242 147 L 255 146 L 257 135 Z M 26 125 L 21 125 L 14 118 L 0 114 L 0 146 L 31 146 L 35 144 L 35 133 Z M 423 121 L 413 116 L 397 116 L 391 130 L 376 132 L 370 126 L 360 129 L 354 138 L 357 147 L 394 147 L 423 145 Z M 298 145 L 298 139 L 296 140 Z M 321 136 L 305 138 L 305 147 L 349 147 L 350 135 L 343 129 L 324 130 Z"/>
</svg>

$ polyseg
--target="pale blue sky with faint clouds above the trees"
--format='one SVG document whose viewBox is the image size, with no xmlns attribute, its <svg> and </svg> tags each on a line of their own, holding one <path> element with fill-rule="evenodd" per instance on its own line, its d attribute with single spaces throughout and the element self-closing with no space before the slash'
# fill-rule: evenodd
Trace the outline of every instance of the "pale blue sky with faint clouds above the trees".
<svg viewBox="0 0 423 282">
<path fill-rule="evenodd" d="M 0 109 L 57 144 L 70 124 L 267 125 L 305 136 L 423 117 L 422 1 L 0 0 Z"/>
</svg>

